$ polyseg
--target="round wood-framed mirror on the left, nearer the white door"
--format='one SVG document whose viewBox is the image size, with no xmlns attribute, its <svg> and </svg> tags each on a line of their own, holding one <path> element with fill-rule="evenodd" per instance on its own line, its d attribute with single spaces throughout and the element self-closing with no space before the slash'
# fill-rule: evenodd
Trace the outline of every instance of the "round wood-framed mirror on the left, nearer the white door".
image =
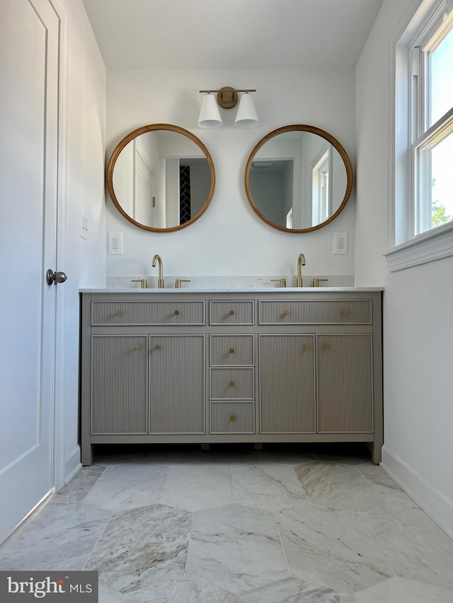
<svg viewBox="0 0 453 603">
<path fill-rule="evenodd" d="M 127 220 L 158 232 L 193 224 L 214 193 L 214 164 L 190 131 L 150 124 L 127 134 L 113 151 L 107 187 Z"/>
</svg>

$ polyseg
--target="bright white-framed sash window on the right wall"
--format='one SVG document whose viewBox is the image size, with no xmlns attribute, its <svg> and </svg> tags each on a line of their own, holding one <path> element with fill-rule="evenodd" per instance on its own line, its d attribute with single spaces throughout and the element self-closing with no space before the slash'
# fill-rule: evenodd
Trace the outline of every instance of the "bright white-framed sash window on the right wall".
<svg viewBox="0 0 453 603">
<path fill-rule="evenodd" d="M 411 47 L 413 235 L 453 221 L 453 23 L 445 21 Z"/>
</svg>

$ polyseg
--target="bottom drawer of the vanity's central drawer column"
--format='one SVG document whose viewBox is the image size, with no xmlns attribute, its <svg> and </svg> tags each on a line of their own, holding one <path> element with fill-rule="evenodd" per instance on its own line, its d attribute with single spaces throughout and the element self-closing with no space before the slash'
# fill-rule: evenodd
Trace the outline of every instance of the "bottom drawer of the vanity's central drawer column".
<svg viewBox="0 0 453 603">
<path fill-rule="evenodd" d="M 211 402 L 210 433 L 255 433 L 253 402 Z"/>
</svg>

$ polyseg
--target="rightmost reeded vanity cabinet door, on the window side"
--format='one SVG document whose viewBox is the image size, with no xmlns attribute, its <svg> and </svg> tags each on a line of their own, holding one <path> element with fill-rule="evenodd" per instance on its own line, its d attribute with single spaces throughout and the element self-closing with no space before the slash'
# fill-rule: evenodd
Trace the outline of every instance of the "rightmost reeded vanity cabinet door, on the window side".
<svg viewBox="0 0 453 603">
<path fill-rule="evenodd" d="M 372 334 L 318 335 L 318 432 L 372 433 Z"/>
</svg>

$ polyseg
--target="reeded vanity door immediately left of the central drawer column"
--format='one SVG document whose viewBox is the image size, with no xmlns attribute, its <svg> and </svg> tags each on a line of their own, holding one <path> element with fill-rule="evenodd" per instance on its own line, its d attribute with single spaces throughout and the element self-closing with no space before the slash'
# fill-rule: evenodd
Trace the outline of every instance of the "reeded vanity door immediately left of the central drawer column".
<svg viewBox="0 0 453 603">
<path fill-rule="evenodd" d="M 205 336 L 149 336 L 149 433 L 205 433 Z"/>
</svg>

